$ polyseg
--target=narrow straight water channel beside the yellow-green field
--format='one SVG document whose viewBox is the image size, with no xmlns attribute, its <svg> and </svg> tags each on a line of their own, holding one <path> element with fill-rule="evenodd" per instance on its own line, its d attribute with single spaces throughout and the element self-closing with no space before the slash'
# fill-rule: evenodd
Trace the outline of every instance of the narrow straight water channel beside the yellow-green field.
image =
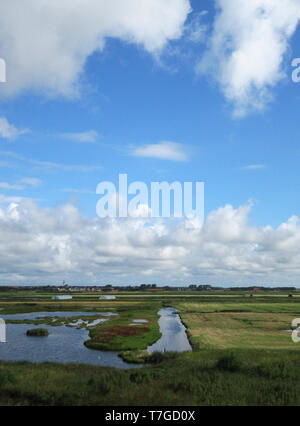
<svg viewBox="0 0 300 426">
<path fill-rule="evenodd" d="M 158 312 L 160 315 L 158 323 L 162 336 L 156 343 L 147 348 L 149 353 L 192 350 L 186 328 L 177 312 L 177 309 L 173 308 L 163 308 Z"/>
</svg>

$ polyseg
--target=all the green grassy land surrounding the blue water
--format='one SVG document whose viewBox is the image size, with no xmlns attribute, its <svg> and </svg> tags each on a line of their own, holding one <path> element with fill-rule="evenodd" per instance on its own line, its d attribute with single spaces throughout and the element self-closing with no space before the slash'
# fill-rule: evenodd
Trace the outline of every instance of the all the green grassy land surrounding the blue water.
<svg viewBox="0 0 300 426">
<path fill-rule="evenodd" d="M 291 321 L 300 317 L 297 293 L 242 292 L 116 294 L 114 301 L 78 294 L 0 294 L 1 313 L 112 311 L 92 329 L 93 347 L 127 351 L 133 360 L 159 338 L 157 312 L 180 310 L 193 352 L 166 353 L 151 366 L 119 371 L 88 365 L 0 362 L 1 405 L 299 405 L 300 343 Z M 129 328 L 133 319 L 149 322 Z M 0 346 L 1 359 L 1 346 Z"/>
</svg>

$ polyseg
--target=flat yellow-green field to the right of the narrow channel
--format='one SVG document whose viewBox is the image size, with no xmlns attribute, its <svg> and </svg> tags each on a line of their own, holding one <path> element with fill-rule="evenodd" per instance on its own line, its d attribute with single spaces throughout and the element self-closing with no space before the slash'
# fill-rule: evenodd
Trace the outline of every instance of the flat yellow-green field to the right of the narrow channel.
<svg viewBox="0 0 300 426">
<path fill-rule="evenodd" d="M 300 317 L 300 304 L 290 299 L 260 297 L 216 303 L 179 302 L 183 322 L 194 347 L 215 349 L 286 349 L 292 341 L 291 321 Z"/>
</svg>

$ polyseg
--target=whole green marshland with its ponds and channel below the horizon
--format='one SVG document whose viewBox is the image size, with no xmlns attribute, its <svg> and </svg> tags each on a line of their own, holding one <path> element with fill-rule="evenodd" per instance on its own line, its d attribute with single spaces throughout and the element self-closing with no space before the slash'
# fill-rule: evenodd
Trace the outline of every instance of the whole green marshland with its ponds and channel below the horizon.
<svg viewBox="0 0 300 426">
<path fill-rule="evenodd" d="M 300 403 L 299 343 L 289 331 L 299 316 L 296 291 L 113 295 L 57 301 L 45 291 L 1 293 L 0 404 Z M 26 336 L 35 328 L 48 337 Z M 16 332 L 29 341 L 27 352 L 19 345 L 18 353 Z"/>
</svg>

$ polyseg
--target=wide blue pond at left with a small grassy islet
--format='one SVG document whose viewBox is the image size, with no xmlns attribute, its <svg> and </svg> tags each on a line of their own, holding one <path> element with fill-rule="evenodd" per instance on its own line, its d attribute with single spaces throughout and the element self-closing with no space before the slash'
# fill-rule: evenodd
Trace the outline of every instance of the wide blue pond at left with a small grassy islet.
<svg viewBox="0 0 300 426">
<path fill-rule="evenodd" d="M 29 314 L 1 315 L 5 320 L 36 319 L 39 317 L 78 317 L 89 315 L 112 315 L 91 312 L 38 312 Z M 120 369 L 137 368 L 141 365 L 127 364 L 116 352 L 104 352 L 89 349 L 84 342 L 89 339 L 89 331 L 74 327 L 52 327 L 43 325 L 49 331 L 48 337 L 28 337 L 26 332 L 40 325 L 7 324 L 6 343 L 0 343 L 0 359 L 3 361 L 30 361 L 30 362 L 61 362 L 84 363 L 103 367 Z"/>
</svg>

